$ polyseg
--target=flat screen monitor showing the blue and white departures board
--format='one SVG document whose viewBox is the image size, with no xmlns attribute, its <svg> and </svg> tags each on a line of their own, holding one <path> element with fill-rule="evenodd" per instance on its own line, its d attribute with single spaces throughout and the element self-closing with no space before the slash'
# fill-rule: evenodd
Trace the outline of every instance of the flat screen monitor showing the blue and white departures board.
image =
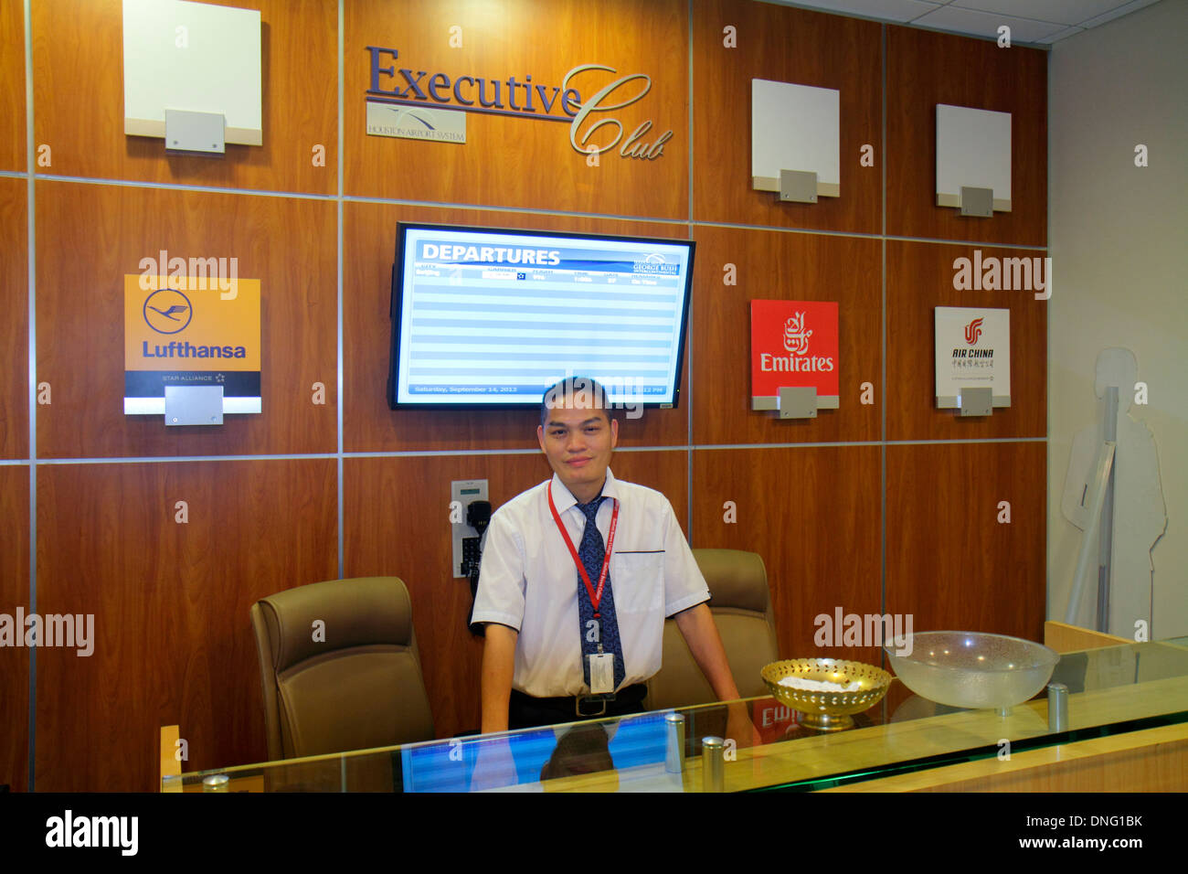
<svg viewBox="0 0 1188 874">
<path fill-rule="evenodd" d="M 531 407 L 565 377 L 675 407 L 693 240 L 400 222 L 393 409 Z"/>
</svg>

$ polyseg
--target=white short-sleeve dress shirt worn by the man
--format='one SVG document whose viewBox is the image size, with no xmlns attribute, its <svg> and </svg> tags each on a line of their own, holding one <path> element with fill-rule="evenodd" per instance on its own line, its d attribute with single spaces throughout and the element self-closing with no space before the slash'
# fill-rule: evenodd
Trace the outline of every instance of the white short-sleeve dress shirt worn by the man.
<svg viewBox="0 0 1188 874">
<path fill-rule="evenodd" d="M 586 517 L 552 477 L 552 502 L 576 547 Z M 588 694 L 577 620 L 577 567 L 549 510 L 549 480 L 516 496 L 491 517 L 482 549 L 472 622 L 498 622 L 519 631 L 512 687 L 537 698 Z M 672 505 L 661 492 L 615 479 L 602 495 L 619 499 L 611 557 L 611 587 L 626 677 L 644 683 L 661 669 L 664 620 L 709 601 Z M 612 501 L 598 510 L 602 542 L 611 529 Z"/>
</svg>

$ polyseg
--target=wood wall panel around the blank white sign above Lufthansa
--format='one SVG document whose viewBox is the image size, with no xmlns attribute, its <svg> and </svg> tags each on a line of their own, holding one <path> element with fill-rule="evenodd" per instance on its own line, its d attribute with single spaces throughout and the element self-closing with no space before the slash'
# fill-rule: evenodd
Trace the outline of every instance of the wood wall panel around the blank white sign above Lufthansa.
<svg viewBox="0 0 1188 874">
<path fill-rule="evenodd" d="M 165 156 L 162 140 L 124 136 L 122 0 L 34 0 L 33 142 L 48 172 L 264 191 L 337 190 L 337 4 L 214 0 L 260 11 L 264 145 Z M 324 165 L 314 146 L 326 147 Z"/>
</svg>

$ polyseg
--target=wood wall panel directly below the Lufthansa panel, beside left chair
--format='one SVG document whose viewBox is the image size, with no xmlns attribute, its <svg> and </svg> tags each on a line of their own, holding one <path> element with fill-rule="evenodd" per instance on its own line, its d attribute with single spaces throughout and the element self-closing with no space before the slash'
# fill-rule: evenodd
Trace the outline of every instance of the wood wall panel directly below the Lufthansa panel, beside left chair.
<svg viewBox="0 0 1188 874">
<path fill-rule="evenodd" d="M 335 482 L 333 458 L 38 467 L 38 611 L 95 617 L 91 655 L 38 653 L 38 788 L 152 788 L 160 725 L 187 771 L 266 757 L 247 611 L 336 577 Z"/>
</svg>

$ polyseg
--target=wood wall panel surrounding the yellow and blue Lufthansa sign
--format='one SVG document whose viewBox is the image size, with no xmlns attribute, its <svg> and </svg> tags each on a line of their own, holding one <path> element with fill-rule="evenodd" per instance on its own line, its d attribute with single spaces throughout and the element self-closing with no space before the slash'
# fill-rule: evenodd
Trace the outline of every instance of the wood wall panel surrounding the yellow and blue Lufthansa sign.
<svg viewBox="0 0 1188 874">
<path fill-rule="evenodd" d="M 40 458 L 335 452 L 335 205 L 162 188 L 37 182 Z M 87 256 L 80 258 L 80 246 Z M 143 257 L 238 258 L 258 278 L 265 414 L 219 428 L 124 415 L 124 275 Z M 314 383 L 326 403 L 312 402 Z"/>
</svg>

